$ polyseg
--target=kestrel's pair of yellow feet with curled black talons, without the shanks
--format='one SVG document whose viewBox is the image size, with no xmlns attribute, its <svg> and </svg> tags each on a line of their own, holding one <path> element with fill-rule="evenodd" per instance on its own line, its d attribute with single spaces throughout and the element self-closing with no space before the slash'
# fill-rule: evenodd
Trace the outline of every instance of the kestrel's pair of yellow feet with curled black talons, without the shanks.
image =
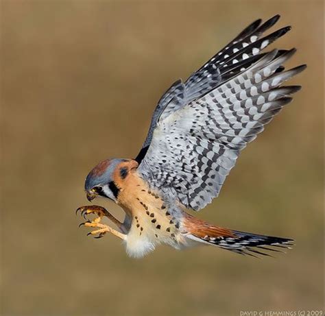
<svg viewBox="0 0 325 316">
<path fill-rule="evenodd" d="M 98 228 L 97 230 L 93 230 L 91 232 L 88 232 L 87 236 L 92 235 L 95 236 L 95 238 L 101 238 L 106 234 L 106 232 L 110 232 L 111 228 L 103 223 L 100 223 L 101 219 L 104 216 L 108 216 L 108 211 L 97 205 L 91 205 L 91 206 L 81 206 L 80 208 L 77 208 L 75 213 L 81 212 L 82 217 L 86 219 L 84 223 L 80 223 L 80 226 L 86 226 L 86 227 L 93 227 L 93 228 Z M 97 217 L 93 219 L 93 221 L 88 220 L 87 216 L 90 214 L 96 214 Z"/>
</svg>

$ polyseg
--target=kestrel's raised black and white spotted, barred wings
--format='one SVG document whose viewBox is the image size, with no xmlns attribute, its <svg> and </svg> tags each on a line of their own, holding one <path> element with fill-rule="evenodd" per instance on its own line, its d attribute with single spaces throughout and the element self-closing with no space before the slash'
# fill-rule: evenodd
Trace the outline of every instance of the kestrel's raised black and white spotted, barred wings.
<svg viewBox="0 0 325 316">
<path fill-rule="evenodd" d="M 136 160 L 150 186 L 200 210 L 219 195 L 241 149 L 291 101 L 281 86 L 305 66 L 284 71 L 295 49 L 261 53 L 290 27 L 260 38 L 276 21 L 255 21 L 186 82 L 160 99 Z"/>
</svg>

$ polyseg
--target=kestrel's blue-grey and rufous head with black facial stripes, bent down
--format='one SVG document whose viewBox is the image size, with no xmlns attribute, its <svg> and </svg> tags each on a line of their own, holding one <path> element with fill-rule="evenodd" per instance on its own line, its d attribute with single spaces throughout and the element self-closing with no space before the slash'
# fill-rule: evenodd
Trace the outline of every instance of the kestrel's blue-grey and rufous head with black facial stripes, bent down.
<svg viewBox="0 0 325 316">
<path fill-rule="evenodd" d="M 88 201 L 91 202 L 95 197 L 101 196 L 116 202 L 121 184 L 127 178 L 130 169 L 134 167 L 137 167 L 135 160 L 115 158 L 99 162 L 88 173 L 84 184 Z"/>
</svg>

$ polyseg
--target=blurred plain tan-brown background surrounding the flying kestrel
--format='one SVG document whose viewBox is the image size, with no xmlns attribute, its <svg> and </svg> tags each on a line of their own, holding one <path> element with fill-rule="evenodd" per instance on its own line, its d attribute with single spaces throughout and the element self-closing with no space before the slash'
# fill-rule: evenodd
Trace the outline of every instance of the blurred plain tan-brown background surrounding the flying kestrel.
<svg viewBox="0 0 325 316">
<path fill-rule="evenodd" d="M 134 260 L 78 229 L 84 178 L 136 156 L 160 95 L 250 22 L 307 63 L 292 104 L 199 217 L 296 239 L 258 260 L 159 247 Z M 240 315 L 323 307 L 323 1 L 1 1 L 1 315 Z M 274 28 L 273 30 L 275 30 Z M 122 212 L 104 199 L 121 217 Z"/>
</svg>

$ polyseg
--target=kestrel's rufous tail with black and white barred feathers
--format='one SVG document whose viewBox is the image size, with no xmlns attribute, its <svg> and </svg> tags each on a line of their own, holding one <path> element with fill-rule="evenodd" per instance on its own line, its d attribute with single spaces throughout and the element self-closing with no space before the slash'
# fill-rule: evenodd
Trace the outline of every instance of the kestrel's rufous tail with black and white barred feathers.
<svg viewBox="0 0 325 316">
<path fill-rule="evenodd" d="M 270 256 L 265 251 L 283 252 L 281 250 L 291 249 L 293 246 L 293 239 L 221 228 L 191 216 L 190 219 L 189 217 L 186 219 L 185 226 L 188 231 L 187 238 L 200 243 L 215 245 L 237 254 Z"/>
</svg>

